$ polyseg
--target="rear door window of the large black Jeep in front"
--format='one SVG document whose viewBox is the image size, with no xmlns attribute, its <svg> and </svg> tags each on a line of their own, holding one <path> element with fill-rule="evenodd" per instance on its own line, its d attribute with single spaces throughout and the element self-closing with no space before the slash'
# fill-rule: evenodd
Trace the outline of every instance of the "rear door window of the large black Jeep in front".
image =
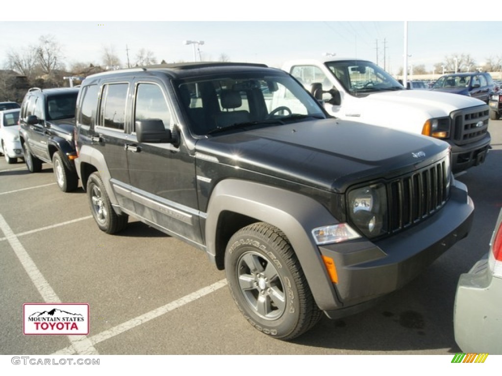
<svg viewBox="0 0 502 376">
<path fill-rule="evenodd" d="M 106 84 L 99 113 L 99 125 L 124 130 L 129 84 Z"/>
</svg>

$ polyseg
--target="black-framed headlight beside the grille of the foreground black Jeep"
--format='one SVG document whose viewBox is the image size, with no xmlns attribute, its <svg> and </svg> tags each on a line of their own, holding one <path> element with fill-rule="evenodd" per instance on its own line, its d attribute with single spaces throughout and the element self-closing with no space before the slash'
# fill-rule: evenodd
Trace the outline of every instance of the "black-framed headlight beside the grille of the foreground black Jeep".
<svg viewBox="0 0 502 376">
<path fill-rule="evenodd" d="M 387 192 L 384 184 L 357 188 L 348 194 L 348 216 L 351 223 L 368 238 L 387 231 Z"/>
</svg>

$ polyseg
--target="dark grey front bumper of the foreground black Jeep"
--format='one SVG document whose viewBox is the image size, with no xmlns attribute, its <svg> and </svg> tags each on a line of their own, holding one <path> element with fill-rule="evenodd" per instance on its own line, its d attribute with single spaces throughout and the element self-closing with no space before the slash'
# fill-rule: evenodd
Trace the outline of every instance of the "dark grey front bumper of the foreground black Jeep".
<svg viewBox="0 0 502 376">
<path fill-rule="evenodd" d="M 408 230 L 375 242 L 362 239 L 319 247 L 335 262 L 335 290 L 341 302 L 321 309 L 331 318 L 341 317 L 401 288 L 467 236 L 473 213 L 465 185 L 455 181 L 446 205 Z"/>
</svg>

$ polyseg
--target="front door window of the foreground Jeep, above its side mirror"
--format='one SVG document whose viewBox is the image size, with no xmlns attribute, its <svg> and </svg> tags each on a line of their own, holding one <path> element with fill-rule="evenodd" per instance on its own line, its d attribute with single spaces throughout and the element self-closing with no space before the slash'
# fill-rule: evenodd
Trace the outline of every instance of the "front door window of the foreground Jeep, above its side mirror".
<svg viewBox="0 0 502 376">
<path fill-rule="evenodd" d="M 134 124 L 137 120 L 161 119 L 164 128 L 171 127 L 171 111 L 160 86 L 140 83 L 136 87 Z"/>
</svg>

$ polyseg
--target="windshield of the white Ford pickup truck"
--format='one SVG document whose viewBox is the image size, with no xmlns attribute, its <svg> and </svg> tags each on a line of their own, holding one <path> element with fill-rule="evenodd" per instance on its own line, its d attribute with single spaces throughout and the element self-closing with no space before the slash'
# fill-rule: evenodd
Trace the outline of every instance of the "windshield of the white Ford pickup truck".
<svg viewBox="0 0 502 376">
<path fill-rule="evenodd" d="M 404 89 L 389 73 L 369 61 L 330 61 L 325 64 L 343 88 L 354 96 Z"/>
</svg>

